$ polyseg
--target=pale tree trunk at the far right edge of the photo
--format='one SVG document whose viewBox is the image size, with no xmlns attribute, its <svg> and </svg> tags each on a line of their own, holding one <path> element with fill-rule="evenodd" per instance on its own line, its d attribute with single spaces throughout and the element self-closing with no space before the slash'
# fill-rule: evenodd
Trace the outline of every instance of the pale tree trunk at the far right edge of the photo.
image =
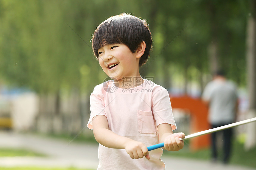
<svg viewBox="0 0 256 170">
<path fill-rule="evenodd" d="M 248 118 L 256 117 L 256 2 L 251 1 L 251 16 L 248 18 L 246 58 L 247 58 L 247 84 L 249 94 Z M 247 125 L 246 150 L 256 146 L 256 123 Z"/>
</svg>

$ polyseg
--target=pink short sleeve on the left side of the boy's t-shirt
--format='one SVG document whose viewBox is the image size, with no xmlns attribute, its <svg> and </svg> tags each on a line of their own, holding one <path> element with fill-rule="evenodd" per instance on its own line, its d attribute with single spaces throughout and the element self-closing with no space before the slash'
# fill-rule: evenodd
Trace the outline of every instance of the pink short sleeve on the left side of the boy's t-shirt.
<svg viewBox="0 0 256 170">
<path fill-rule="evenodd" d="M 102 94 L 101 86 L 97 85 L 93 93 L 90 95 L 90 119 L 88 121 L 87 127 L 89 129 L 93 129 L 93 118 L 97 115 L 104 115 L 105 104 L 104 104 L 104 96 Z"/>
</svg>

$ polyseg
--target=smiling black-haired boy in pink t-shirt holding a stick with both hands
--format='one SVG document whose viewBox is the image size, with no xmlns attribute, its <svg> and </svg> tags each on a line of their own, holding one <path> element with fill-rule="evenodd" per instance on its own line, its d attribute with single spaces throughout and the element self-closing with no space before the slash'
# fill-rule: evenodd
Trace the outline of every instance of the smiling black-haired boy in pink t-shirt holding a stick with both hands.
<svg viewBox="0 0 256 170">
<path fill-rule="evenodd" d="M 152 47 L 148 24 L 125 13 L 110 17 L 97 27 L 92 44 L 113 79 L 90 96 L 88 128 L 99 142 L 98 169 L 165 169 L 163 150 L 148 152 L 147 146 L 164 142 L 163 149 L 177 151 L 185 135 L 172 132 L 176 124 L 167 90 L 139 73 Z"/>
</svg>

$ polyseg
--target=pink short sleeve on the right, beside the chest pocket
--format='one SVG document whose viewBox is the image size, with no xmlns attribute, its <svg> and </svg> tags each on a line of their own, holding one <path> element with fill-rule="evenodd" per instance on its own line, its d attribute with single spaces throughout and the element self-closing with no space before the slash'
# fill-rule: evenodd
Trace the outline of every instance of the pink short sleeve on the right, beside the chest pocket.
<svg viewBox="0 0 256 170">
<path fill-rule="evenodd" d="M 165 88 L 158 90 L 155 94 L 153 94 L 152 113 L 157 126 L 167 123 L 171 124 L 172 130 L 176 129 L 169 93 Z"/>
</svg>

